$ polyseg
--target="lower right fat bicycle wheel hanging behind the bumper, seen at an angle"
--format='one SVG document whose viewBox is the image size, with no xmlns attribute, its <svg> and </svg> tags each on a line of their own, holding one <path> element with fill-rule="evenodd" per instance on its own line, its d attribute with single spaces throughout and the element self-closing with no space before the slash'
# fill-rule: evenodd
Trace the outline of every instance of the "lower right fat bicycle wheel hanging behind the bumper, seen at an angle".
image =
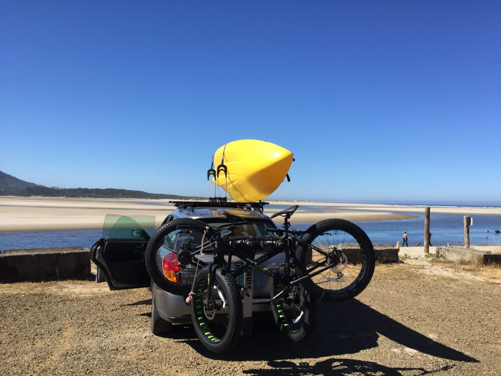
<svg viewBox="0 0 501 376">
<path fill-rule="evenodd" d="M 310 292 L 295 285 L 287 296 L 273 300 L 284 289 L 280 277 L 273 279 L 272 312 L 280 332 L 293 342 L 308 338 L 315 327 L 317 304 Z"/>
</svg>

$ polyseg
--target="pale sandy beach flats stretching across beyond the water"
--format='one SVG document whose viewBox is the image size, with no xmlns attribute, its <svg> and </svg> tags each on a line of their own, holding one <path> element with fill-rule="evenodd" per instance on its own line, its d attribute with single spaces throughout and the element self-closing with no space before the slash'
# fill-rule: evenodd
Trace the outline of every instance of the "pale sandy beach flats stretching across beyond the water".
<svg viewBox="0 0 501 376">
<path fill-rule="evenodd" d="M 275 205 L 299 205 L 293 223 L 318 222 L 328 218 L 349 221 L 379 221 L 414 218 L 404 214 L 423 213 L 424 208 L 404 205 L 336 204 L 316 202 L 273 201 Z M 301 210 L 317 206 L 319 210 Z M 155 216 L 159 226 L 174 210 L 169 200 L 140 199 L 69 199 L 47 197 L 0 197 L 0 231 L 100 229 L 107 214 L 124 216 Z M 501 215 L 501 208 L 431 207 L 432 213 Z M 265 213 L 275 213 L 265 207 Z M 278 223 L 282 222 L 277 218 Z"/>
</svg>

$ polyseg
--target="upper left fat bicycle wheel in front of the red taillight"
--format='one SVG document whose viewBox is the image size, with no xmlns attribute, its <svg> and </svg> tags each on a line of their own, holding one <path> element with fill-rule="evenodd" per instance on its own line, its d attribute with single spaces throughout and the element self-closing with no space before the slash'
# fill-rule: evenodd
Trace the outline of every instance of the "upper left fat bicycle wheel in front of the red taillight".
<svg viewBox="0 0 501 376">
<path fill-rule="evenodd" d="M 203 238 L 203 252 L 213 252 L 210 247 L 211 233 L 204 235 L 207 225 L 192 219 L 177 219 L 160 227 L 146 247 L 146 269 L 158 287 L 175 295 L 188 295 L 191 291 L 195 266 L 189 262 L 190 254 L 198 253 Z M 186 269 L 180 274 L 179 262 Z"/>
</svg>

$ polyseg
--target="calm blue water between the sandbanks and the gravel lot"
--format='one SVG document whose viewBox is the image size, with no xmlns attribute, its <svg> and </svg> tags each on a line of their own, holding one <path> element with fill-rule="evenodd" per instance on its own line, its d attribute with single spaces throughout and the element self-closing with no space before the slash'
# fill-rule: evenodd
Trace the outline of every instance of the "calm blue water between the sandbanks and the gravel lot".
<svg viewBox="0 0 501 376">
<path fill-rule="evenodd" d="M 270 205 L 270 209 L 283 210 L 285 206 Z M 301 206 L 304 210 L 322 210 L 323 207 Z M 336 209 L 337 210 L 337 209 Z M 407 231 L 410 246 L 424 243 L 424 213 L 406 213 L 419 216 L 407 220 L 356 222 L 369 236 L 373 243 L 396 244 L 402 241 L 402 234 Z M 494 230 L 501 230 L 501 216 L 473 215 L 473 226 L 470 226 L 471 245 L 501 245 L 501 234 Z M 292 218 L 294 219 L 294 217 Z M 306 230 L 311 224 L 294 223 L 294 228 Z M 457 245 L 463 242 L 463 215 L 462 214 L 433 214 L 430 215 L 431 244 L 433 246 Z M 0 250 L 16 248 L 43 248 L 43 247 L 86 247 L 90 248 L 96 240 L 102 237 L 102 230 L 59 230 L 59 231 L 9 231 L 0 232 Z"/>
</svg>

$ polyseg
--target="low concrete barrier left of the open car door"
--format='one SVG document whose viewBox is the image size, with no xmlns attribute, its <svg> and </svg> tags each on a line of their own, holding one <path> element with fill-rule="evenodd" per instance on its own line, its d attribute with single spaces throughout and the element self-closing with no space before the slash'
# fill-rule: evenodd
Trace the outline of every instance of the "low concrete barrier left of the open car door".
<svg viewBox="0 0 501 376">
<path fill-rule="evenodd" d="M 0 254 L 0 283 L 90 277 L 87 248 L 12 249 Z"/>
</svg>

